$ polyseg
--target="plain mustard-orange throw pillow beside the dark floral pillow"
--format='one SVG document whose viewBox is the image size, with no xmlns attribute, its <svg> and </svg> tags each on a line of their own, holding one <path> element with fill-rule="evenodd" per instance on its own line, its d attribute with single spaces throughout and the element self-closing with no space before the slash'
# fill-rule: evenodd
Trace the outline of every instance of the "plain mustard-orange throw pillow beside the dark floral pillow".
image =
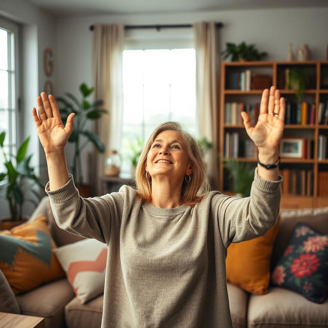
<svg viewBox="0 0 328 328">
<path fill-rule="evenodd" d="M 227 280 L 253 294 L 267 294 L 270 258 L 278 222 L 264 236 L 232 243 L 226 259 Z"/>
</svg>

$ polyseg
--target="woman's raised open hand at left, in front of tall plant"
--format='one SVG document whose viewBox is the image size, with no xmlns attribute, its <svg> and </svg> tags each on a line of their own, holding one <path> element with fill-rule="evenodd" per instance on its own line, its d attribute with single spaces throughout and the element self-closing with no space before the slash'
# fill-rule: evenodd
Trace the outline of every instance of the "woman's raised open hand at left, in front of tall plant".
<svg viewBox="0 0 328 328">
<path fill-rule="evenodd" d="M 45 92 L 36 98 L 38 115 L 33 107 L 32 115 L 37 128 L 37 134 L 46 154 L 63 151 L 68 138 L 73 131 L 73 117 L 71 113 L 64 127 L 60 118 L 56 100 L 52 95 L 49 99 Z"/>
</svg>

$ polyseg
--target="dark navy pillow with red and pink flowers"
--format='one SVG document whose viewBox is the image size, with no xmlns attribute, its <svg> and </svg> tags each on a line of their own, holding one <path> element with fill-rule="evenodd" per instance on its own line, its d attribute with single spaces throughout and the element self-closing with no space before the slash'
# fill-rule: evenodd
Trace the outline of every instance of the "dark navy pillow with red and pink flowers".
<svg viewBox="0 0 328 328">
<path fill-rule="evenodd" d="M 271 280 L 313 302 L 323 303 L 328 292 L 328 235 L 297 223 Z"/>
</svg>

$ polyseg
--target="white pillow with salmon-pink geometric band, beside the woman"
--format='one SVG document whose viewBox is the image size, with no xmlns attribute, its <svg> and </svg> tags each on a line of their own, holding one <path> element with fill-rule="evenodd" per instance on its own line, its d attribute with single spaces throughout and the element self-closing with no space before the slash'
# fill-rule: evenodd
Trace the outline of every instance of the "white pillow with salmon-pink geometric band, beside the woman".
<svg viewBox="0 0 328 328">
<path fill-rule="evenodd" d="M 81 304 L 104 293 L 107 245 L 85 239 L 54 250 Z"/>
</svg>

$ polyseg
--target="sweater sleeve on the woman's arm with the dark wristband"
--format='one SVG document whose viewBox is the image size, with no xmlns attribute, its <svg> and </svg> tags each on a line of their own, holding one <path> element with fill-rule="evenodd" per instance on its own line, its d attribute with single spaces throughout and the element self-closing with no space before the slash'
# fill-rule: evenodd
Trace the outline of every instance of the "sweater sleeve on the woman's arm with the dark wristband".
<svg viewBox="0 0 328 328">
<path fill-rule="evenodd" d="M 221 239 L 226 247 L 264 235 L 277 221 L 282 176 L 277 181 L 262 179 L 254 171 L 249 197 L 216 195 L 215 208 Z"/>
</svg>

